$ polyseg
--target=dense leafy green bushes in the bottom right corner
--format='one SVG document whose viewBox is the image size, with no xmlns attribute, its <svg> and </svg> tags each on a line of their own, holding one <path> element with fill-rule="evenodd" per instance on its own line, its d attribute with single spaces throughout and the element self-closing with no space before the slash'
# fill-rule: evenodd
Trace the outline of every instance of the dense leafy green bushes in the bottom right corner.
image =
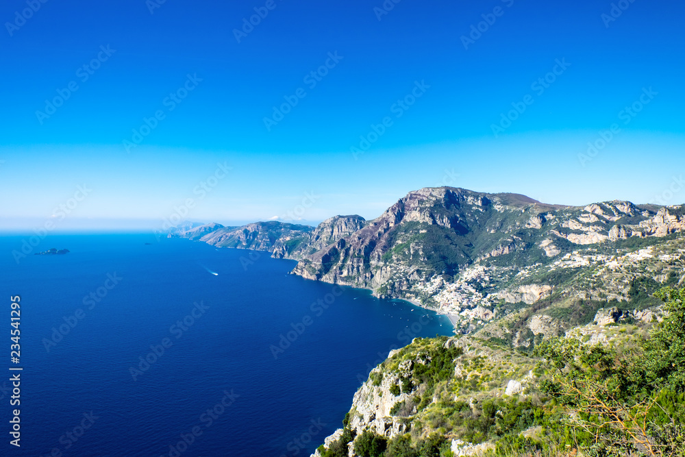
<svg viewBox="0 0 685 457">
<path fill-rule="evenodd" d="M 552 423 L 549 436 L 593 456 L 685 455 L 685 290 L 657 295 L 669 315 L 634 345 L 566 338 L 538 348 L 556 369 L 542 390 L 575 413 Z"/>
</svg>

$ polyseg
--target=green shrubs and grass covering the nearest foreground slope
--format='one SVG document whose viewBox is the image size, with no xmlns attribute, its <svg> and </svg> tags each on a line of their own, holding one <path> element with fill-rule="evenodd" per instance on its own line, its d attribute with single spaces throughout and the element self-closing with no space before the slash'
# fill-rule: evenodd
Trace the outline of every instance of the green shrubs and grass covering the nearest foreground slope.
<svg viewBox="0 0 685 457">
<path fill-rule="evenodd" d="M 685 289 L 664 288 L 656 297 L 668 314 L 649 332 L 610 327 L 619 339 L 608 345 L 550 338 L 537 345 L 536 359 L 472 337 L 466 352 L 446 337 L 418 338 L 371 376 L 375 384 L 381 373 L 402 373 L 392 391 L 412 396 L 390 414 L 405 421 L 405 434 L 388 440 L 366 430 L 356 453 L 452 457 L 451 440 L 460 439 L 493 443 L 484 453 L 490 457 L 685 457 Z M 483 390 L 500 388 L 493 378 L 521 379 L 525 360 L 538 364 L 527 395 Z M 353 439 L 349 430 L 339 441 L 345 439 Z M 343 447 L 334 443 L 322 455 L 342 456 L 334 449 Z"/>
</svg>

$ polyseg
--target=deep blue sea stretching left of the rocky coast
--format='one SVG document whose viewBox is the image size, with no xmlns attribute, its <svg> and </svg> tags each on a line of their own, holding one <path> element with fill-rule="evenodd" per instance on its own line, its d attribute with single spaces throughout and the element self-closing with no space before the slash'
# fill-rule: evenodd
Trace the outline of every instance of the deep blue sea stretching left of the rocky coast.
<svg viewBox="0 0 685 457">
<path fill-rule="evenodd" d="M 2 456 L 308 456 L 390 349 L 451 334 L 445 317 L 303 280 L 267 253 L 51 234 L 31 254 L 71 252 L 17 263 L 24 239 L 0 237 Z M 21 406 L 9 367 L 23 368 Z"/>
</svg>

